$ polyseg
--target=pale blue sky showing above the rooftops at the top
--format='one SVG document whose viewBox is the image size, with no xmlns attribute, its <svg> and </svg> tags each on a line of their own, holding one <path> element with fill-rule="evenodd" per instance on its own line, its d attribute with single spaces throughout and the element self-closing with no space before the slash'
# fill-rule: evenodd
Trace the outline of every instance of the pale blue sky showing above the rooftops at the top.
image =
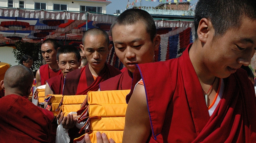
<svg viewBox="0 0 256 143">
<path fill-rule="evenodd" d="M 108 0 L 111 1 L 109 5 L 107 5 L 107 14 L 113 15 L 116 13 L 116 10 L 120 10 L 120 13 L 126 9 L 128 0 Z M 129 0 L 129 2 L 132 2 L 133 0 Z M 139 0 L 138 0 L 139 1 Z M 190 3 L 194 4 L 197 0 L 191 0 Z M 145 1 L 142 0 L 142 6 L 146 7 L 155 7 L 157 5 L 161 4 L 161 2 L 152 2 L 152 1 Z M 140 3 L 136 3 L 137 6 L 140 6 Z M 131 8 L 131 7 L 130 7 Z"/>
</svg>

